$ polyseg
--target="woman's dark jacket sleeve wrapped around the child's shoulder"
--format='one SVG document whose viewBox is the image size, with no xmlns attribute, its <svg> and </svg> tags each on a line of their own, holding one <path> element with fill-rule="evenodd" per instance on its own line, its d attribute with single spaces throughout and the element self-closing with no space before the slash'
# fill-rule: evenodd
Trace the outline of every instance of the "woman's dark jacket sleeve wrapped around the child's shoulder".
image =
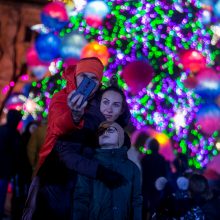
<svg viewBox="0 0 220 220">
<path fill-rule="evenodd" d="M 81 144 L 57 141 L 55 150 L 65 167 L 87 177 L 96 178 L 98 162 L 81 154 Z"/>
</svg>

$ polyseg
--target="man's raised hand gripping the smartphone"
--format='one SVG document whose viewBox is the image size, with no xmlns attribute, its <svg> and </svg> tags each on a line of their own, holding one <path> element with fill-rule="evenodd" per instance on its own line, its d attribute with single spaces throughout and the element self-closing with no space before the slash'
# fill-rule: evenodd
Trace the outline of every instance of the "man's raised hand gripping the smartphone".
<svg viewBox="0 0 220 220">
<path fill-rule="evenodd" d="M 73 121 L 74 123 L 79 123 L 80 119 L 82 118 L 85 107 L 87 106 L 88 102 L 85 101 L 82 104 L 83 101 L 83 95 L 82 94 L 75 94 L 75 90 L 73 90 L 67 97 L 67 104 L 69 108 L 72 111 Z M 82 105 L 81 105 L 82 104 Z"/>
</svg>

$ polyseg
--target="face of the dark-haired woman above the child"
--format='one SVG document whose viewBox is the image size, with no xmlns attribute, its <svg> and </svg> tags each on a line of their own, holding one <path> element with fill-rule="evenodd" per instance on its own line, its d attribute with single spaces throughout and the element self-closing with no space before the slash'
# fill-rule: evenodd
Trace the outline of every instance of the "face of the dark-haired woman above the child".
<svg viewBox="0 0 220 220">
<path fill-rule="evenodd" d="M 100 111 L 107 121 L 115 121 L 122 114 L 123 98 L 116 91 L 107 91 L 102 95 Z"/>
</svg>

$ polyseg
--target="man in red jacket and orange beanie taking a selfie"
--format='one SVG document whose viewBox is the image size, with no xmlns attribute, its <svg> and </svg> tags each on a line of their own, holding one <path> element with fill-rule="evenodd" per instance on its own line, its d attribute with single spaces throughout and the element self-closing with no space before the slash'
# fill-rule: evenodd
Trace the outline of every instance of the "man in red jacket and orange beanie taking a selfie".
<svg viewBox="0 0 220 220">
<path fill-rule="evenodd" d="M 35 175 L 51 152 L 58 137 L 83 127 L 82 116 L 88 102 L 80 106 L 83 95 L 77 94 L 73 98 L 71 97 L 84 77 L 89 77 L 97 83 L 91 94 L 93 96 L 101 84 L 103 69 L 104 66 L 98 58 L 90 57 L 81 59 L 77 65 L 69 66 L 64 71 L 63 77 L 67 80 L 67 85 L 56 93 L 51 100 L 47 135 L 39 153 L 39 162 L 34 172 Z"/>
</svg>

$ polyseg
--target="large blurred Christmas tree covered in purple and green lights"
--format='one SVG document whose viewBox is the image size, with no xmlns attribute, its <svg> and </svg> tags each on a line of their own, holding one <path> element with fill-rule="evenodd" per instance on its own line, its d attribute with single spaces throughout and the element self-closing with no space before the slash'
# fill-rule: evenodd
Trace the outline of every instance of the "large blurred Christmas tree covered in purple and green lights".
<svg viewBox="0 0 220 220">
<path fill-rule="evenodd" d="M 200 21 L 200 5 L 194 0 L 106 0 L 102 2 L 107 6 L 107 15 L 97 20 L 89 16 L 93 11 L 86 12 L 91 2 L 87 2 L 85 10 L 74 11 L 69 24 L 59 31 L 59 37 L 64 39 L 77 33 L 89 43 L 104 45 L 109 59 L 103 82 L 114 74 L 119 77 L 133 124 L 163 133 L 172 140 L 174 149 L 188 154 L 191 166 L 205 166 L 218 153 L 214 146 L 218 132 L 207 137 L 196 124 L 202 100 L 185 87 L 184 80 L 192 71 L 180 62 L 184 51 L 191 50 L 205 57 L 209 65 L 215 65 L 218 52 L 211 50 L 212 31 Z M 144 79 L 150 79 L 150 83 L 137 79 L 139 88 L 126 80 L 125 69 L 128 67 L 129 72 L 133 68 L 128 66 L 131 63 L 149 67 Z M 63 59 L 55 59 L 52 66 L 56 74 L 32 83 L 31 94 L 40 97 L 37 104 L 43 108 L 39 112 L 43 117 L 47 116 L 52 95 L 65 86 L 62 65 Z"/>
</svg>

